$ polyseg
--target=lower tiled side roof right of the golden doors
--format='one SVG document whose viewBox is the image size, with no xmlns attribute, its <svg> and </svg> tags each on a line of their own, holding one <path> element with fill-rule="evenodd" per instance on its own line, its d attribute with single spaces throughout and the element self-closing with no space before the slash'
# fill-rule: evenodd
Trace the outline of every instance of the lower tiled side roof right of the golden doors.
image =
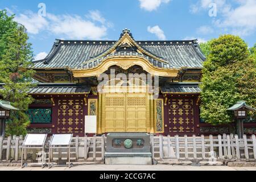
<svg viewBox="0 0 256 182">
<path fill-rule="evenodd" d="M 174 82 L 160 86 L 163 93 L 200 93 L 199 82 Z"/>
</svg>

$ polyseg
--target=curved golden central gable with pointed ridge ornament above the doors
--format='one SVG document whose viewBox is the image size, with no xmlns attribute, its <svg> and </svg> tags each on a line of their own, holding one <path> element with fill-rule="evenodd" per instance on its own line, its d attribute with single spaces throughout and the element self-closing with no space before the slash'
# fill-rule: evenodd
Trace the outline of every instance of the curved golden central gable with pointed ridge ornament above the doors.
<svg viewBox="0 0 256 182">
<path fill-rule="evenodd" d="M 154 61 L 154 64 L 152 61 Z M 152 75 L 164 77 L 176 77 L 179 72 L 179 68 L 164 68 L 163 64 L 168 67 L 168 61 L 155 56 L 139 46 L 133 39 L 130 30 L 127 29 L 123 30 L 119 40 L 115 42 L 108 51 L 86 61 L 84 64 L 91 64 L 94 65 L 94 67 L 87 67 L 84 69 L 81 66 L 81 68 L 71 69 L 74 77 L 100 75 L 112 65 L 117 65 L 125 70 L 134 65 L 138 65 L 142 67 L 144 71 L 151 73 Z"/>
</svg>

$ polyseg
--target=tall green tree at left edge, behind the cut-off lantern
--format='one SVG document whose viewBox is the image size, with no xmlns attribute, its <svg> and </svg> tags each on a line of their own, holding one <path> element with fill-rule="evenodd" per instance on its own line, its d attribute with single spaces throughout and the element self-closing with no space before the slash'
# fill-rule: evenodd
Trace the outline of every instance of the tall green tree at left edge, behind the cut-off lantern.
<svg viewBox="0 0 256 182">
<path fill-rule="evenodd" d="M 24 135 L 30 123 L 26 110 L 32 97 L 27 93 L 34 71 L 26 69 L 32 65 L 33 57 L 27 40 L 26 29 L 14 22 L 14 16 L 0 11 L 0 82 L 5 83 L 0 95 L 19 109 L 11 112 L 6 135 Z"/>
</svg>

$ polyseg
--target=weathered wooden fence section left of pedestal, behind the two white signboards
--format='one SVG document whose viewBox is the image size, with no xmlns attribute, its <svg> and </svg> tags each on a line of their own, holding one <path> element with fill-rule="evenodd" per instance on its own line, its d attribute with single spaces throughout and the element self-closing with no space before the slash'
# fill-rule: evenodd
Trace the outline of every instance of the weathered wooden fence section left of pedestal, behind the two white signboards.
<svg viewBox="0 0 256 182">
<path fill-rule="evenodd" d="M 48 154 L 50 139 L 51 138 L 49 137 L 46 140 L 46 155 Z M 8 138 L 0 137 L 0 163 L 6 161 L 21 160 L 23 141 L 24 139 L 22 136 L 13 136 Z M 104 147 L 105 135 L 102 135 L 100 137 L 73 137 L 71 141 L 71 160 L 100 161 L 104 159 Z M 38 152 L 38 150 L 24 149 L 24 160 L 36 160 L 36 152 Z M 59 152 L 53 152 L 53 154 L 55 155 L 63 156 L 62 153 L 67 154 L 67 151 L 61 150 L 61 154 Z M 59 156 L 57 156 L 57 158 L 59 158 Z"/>
</svg>

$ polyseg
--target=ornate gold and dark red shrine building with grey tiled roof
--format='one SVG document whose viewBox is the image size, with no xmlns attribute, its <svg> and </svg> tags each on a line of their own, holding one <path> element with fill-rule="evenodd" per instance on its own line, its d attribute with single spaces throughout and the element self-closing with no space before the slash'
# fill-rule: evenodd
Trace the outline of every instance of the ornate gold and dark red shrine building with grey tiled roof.
<svg viewBox="0 0 256 182">
<path fill-rule="evenodd" d="M 139 41 L 127 29 L 119 40 L 56 39 L 46 58 L 28 68 L 40 82 L 30 88 L 28 130 L 84 136 L 85 115 L 97 115 L 98 135 L 212 134 L 200 122 L 204 61 L 197 40 Z M 99 90 L 102 74 L 109 79 Z"/>
</svg>

